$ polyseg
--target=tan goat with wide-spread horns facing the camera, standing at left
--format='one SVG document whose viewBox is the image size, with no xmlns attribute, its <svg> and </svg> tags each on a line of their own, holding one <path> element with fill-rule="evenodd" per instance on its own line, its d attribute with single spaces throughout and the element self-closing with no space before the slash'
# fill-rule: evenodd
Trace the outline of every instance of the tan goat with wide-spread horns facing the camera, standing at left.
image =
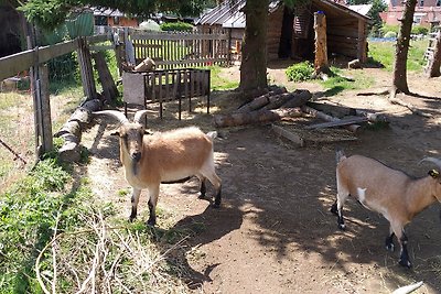
<svg viewBox="0 0 441 294">
<path fill-rule="evenodd" d="M 137 111 L 133 122 L 129 122 L 122 112 L 116 110 L 94 112 L 95 116 L 114 117 L 121 123 L 114 134 L 119 137 L 120 160 L 126 179 L 132 187 L 129 220 L 137 217 L 139 196 L 147 188 L 150 196 L 147 224 L 154 226 L 161 182 L 176 182 L 193 175 L 201 179 L 201 198 L 205 197 L 205 178 L 214 185 L 216 197 L 213 206 L 219 207 L 222 182 L 215 172 L 213 152 L 216 133 L 205 134 L 198 128 L 190 127 L 144 135 L 141 120 L 148 112 L 151 110 Z"/>
</svg>

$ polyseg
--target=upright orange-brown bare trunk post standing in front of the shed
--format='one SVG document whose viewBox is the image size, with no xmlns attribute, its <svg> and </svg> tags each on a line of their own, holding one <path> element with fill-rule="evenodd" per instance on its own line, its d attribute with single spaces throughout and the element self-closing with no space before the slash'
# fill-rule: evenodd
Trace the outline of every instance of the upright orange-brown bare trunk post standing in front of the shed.
<svg viewBox="0 0 441 294">
<path fill-rule="evenodd" d="M 326 17 L 323 12 L 314 12 L 314 31 L 315 31 L 315 75 L 330 72 L 327 63 L 327 44 L 326 44 Z"/>
</svg>

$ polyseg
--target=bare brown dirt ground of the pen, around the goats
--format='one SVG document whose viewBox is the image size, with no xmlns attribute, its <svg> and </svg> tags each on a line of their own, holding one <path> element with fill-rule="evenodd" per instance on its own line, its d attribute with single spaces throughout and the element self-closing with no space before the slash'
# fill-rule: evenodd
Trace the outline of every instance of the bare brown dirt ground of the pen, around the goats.
<svg viewBox="0 0 441 294">
<path fill-rule="evenodd" d="M 269 124 L 219 130 L 215 140 L 217 172 L 223 179 L 223 204 L 214 209 L 197 199 L 198 183 L 162 185 L 158 222 L 173 215 L 171 228 L 202 226 L 181 252 L 189 275 L 183 277 L 196 293 L 390 293 L 399 286 L 423 281 L 416 293 L 441 293 L 440 205 L 429 207 L 407 227 L 411 270 L 398 265 L 398 252 L 385 250 L 388 222 L 351 199 L 345 206 L 346 231 L 337 229 L 330 213 L 335 199 L 335 148 L 346 154 L 378 159 L 411 175 L 424 176 L 430 164 L 418 165 L 424 155 L 440 156 L 441 79 L 408 75 L 418 96 L 402 97 L 430 118 L 390 105 L 387 96 L 356 96 L 344 91 L 323 97 L 313 84 L 288 83 L 283 69 L 269 68 L 270 78 L 288 88 L 308 88 L 319 101 L 332 101 L 369 111 L 385 112 L 388 128 L 365 129 L 357 141 L 316 143 L 297 148 L 276 135 Z M 388 86 L 390 74 L 375 68 L 358 69 L 375 77 L 372 90 Z M 238 78 L 238 69 L 224 73 Z M 351 74 L 351 73 L 349 73 Z M 318 98 L 321 97 L 321 98 Z M 213 95 L 213 112 L 228 105 L 227 95 Z M 234 105 L 230 104 L 230 105 Z M 166 109 L 165 109 L 166 112 Z M 197 122 L 213 130 L 211 117 L 194 121 L 149 119 L 149 128 L 163 130 Z M 303 119 L 302 123 L 311 123 Z M 109 123 L 109 124 L 106 124 Z M 105 200 L 129 215 L 130 198 L 118 160 L 115 124 L 95 126 L 83 144 L 92 152 L 88 177 Z M 209 189 L 213 193 L 212 189 Z M 148 218 L 148 194 L 143 192 L 139 221 Z"/>
</svg>

